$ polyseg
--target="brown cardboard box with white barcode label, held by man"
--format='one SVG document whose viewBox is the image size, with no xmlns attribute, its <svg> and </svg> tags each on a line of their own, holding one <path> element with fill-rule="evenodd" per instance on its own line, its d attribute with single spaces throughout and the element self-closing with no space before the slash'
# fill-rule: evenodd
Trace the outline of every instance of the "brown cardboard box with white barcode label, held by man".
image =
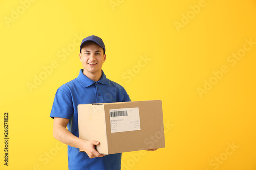
<svg viewBox="0 0 256 170">
<path fill-rule="evenodd" d="M 101 154 L 165 147 L 161 100 L 80 104 L 78 127 Z"/>
</svg>

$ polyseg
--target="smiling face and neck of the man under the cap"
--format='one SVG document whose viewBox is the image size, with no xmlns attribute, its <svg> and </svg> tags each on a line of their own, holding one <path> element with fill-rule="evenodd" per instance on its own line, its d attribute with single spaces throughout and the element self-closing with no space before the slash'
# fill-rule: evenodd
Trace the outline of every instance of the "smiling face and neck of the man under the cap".
<svg viewBox="0 0 256 170">
<path fill-rule="evenodd" d="M 101 78 L 102 65 L 106 60 L 103 48 L 95 42 L 88 42 L 82 47 L 79 56 L 83 65 L 83 74 L 89 79 L 98 81 Z"/>
</svg>

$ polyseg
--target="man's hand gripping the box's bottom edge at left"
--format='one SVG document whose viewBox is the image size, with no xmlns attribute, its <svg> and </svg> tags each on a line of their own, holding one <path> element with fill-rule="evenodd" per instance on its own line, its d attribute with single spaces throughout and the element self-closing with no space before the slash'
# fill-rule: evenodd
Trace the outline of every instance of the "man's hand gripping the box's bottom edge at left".
<svg viewBox="0 0 256 170">
<path fill-rule="evenodd" d="M 99 145 L 100 142 L 95 141 L 95 140 L 90 140 L 90 141 L 86 141 L 84 144 L 84 147 L 81 148 L 81 150 L 83 150 L 84 152 L 87 153 L 87 155 L 89 156 L 89 158 L 95 158 L 95 157 L 103 157 L 105 155 L 100 154 L 98 151 L 96 151 L 95 149 L 95 145 Z"/>
</svg>

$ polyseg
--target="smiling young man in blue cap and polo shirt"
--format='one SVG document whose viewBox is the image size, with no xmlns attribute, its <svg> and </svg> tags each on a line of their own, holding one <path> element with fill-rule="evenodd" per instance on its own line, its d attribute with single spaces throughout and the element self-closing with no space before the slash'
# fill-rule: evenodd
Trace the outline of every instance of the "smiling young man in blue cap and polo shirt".
<svg viewBox="0 0 256 170">
<path fill-rule="evenodd" d="M 53 136 L 68 145 L 71 170 L 121 168 L 121 153 L 99 154 L 95 145 L 99 145 L 100 141 L 86 141 L 80 139 L 78 134 L 78 104 L 131 101 L 125 89 L 107 79 L 102 71 L 105 51 L 101 38 L 94 35 L 84 38 L 79 54 L 83 69 L 76 79 L 62 85 L 55 94 L 50 114 L 54 118 Z M 79 149 L 86 153 L 79 152 Z"/>
</svg>

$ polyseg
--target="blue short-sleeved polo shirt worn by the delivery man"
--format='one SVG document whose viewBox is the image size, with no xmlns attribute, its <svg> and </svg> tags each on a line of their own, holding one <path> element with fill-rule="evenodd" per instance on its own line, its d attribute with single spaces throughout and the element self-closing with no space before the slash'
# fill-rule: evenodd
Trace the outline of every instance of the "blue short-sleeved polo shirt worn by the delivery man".
<svg viewBox="0 0 256 170">
<path fill-rule="evenodd" d="M 131 101 L 125 89 L 119 84 L 102 77 L 95 82 L 83 74 L 83 69 L 74 80 L 63 84 L 56 92 L 50 117 L 69 119 L 68 130 L 79 137 L 77 106 L 84 103 L 110 103 Z M 90 159 L 78 148 L 68 146 L 69 170 L 72 169 L 120 169 L 121 153 Z"/>
</svg>

